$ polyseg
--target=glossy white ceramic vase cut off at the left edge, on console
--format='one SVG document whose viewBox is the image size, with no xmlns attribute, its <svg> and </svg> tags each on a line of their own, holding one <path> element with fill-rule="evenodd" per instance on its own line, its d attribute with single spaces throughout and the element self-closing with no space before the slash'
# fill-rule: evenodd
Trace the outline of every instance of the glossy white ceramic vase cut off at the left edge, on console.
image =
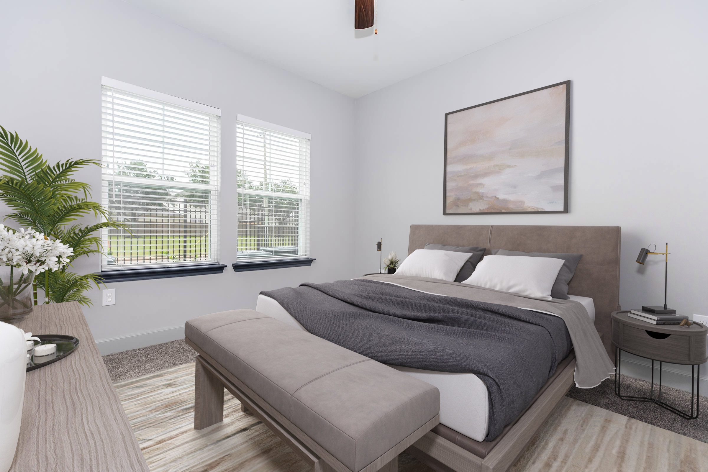
<svg viewBox="0 0 708 472">
<path fill-rule="evenodd" d="M 0 322 L 0 472 L 10 470 L 17 449 L 26 374 L 25 334 Z"/>
</svg>

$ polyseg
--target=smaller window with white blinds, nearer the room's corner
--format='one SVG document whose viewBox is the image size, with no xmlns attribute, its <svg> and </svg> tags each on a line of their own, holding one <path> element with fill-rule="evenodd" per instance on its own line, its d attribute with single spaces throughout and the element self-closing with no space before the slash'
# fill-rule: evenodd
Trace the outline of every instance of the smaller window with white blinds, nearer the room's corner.
<svg viewBox="0 0 708 472">
<path fill-rule="evenodd" d="M 238 116 L 237 262 L 307 257 L 310 135 Z"/>
</svg>

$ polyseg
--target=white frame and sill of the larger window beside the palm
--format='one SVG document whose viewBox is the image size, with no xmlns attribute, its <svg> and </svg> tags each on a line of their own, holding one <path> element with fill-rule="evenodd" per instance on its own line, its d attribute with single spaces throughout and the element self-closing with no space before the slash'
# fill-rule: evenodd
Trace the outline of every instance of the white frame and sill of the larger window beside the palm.
<svg viewBox="0 0 708 472">
<path fill-rule="evenodd" d="M 106 282 L 118 282 L 125 280 L 146 280 L 154 278 L 164 278 L 164 277 L 185 277 L 188 275 L 202 275 L 202 274 L 213 274 L 221 273 L 226 267 L 225 264 L 220 263 L 221 254 L 219 251 L 219 243 L 221 239 L 221 180 L 222 175 L 220 172 L 221 167 L 221 110 L 219 108 L 214 108 L 209 105 L 204 105 L 202 103 L 194 102 L 192 100 L 186 100 L 184 98 L 179 98 L 175 96 L 167 95 L 166 93 L 161 93 L 158 91 L 153 91 L 148 88 L 142 88 L 132 84 L 127 84 L 122 81 L 115 79 L 110 79 L 108 77 L 101 77 L 101 96 L 103 100 L 103 88 L 114 88 L 119 91 L 125 91 L 127 93 L 132 93 L 138 96 L 142 96 L 151 100 L 158 100 L 161 102 L 169 103 L 170 105 L 176 105 L 177 107 L 187 108 L 188 110 L 201 112 L 209 115 L 215 115 L 217 117 L 217 152 L 216 159 L 210 158 L 210 163 L 215 161 L 216 165 L 216 178 L 215 184 L 207 184 L 205 186 L 210 187 L 210 191 L 215 192 L 215 195 L 211 195 L 210 202 L 207 207 L 207 218 L 209 219 L 209 231 L 215 231 L 215 236 L 210 238 L 210 259 L 211 260 L 194 260 L 194 261 L 178 261 L 176 263 L 144 263 L 144 264 L 129 264 L 129 265 L 119 265 L 116 267 L 106 267 L 104 264 L 105 256 L 101 257 L 99 261 L 99 272 L 95 272 L 96 275 L 101 276 Z M 103 108 L 103 105 L 102 107 Z M 101 112 L 103 114 L 103 110 Z M 103 123 L 104 118 L 101 118 Z M 105 164 L 105 149 L 104 149 L 104 137 L 103 128 L 105 125 L 101 125 L 102 128 L 102 139 L 101 139 L 101 162 Z M 105 194 L 105 180 L 108 173 L 102 173 L 101 175 L 101 203 L 105 207 L 108 207 L 108 196 Z M 118 182 L 121 179 L 116 179 L 115 174 L 112 177 L 114 181 Z M 132 180 L 140 180 L 139 178 L 125 178 L 123 181 L 130 183 Z M 147 179 L 146 179 L 147 180 Z M 157 183 L 157 182 L 156 182 Z M 147 183 L 150 185 L 149 183 Z M 187 185 L 181 185 L 181 182 L 166 183 L 166 187 L 171 188 L 197 188 L 193 183 L 187 183 Z M 203 189 L 202 189 L 203 190 Z M 214 205 L 216 208 L 214 208 Z M 108 238 L 107 229 L 101 231 L 101 240 L 105 244 Z"/>
</svg>

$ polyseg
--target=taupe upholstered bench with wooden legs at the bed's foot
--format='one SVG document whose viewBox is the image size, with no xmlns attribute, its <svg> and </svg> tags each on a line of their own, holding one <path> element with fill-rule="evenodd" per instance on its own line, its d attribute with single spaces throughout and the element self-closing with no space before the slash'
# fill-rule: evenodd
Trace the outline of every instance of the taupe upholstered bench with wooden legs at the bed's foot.
<svg viewBox="0 0 708 472">
<path fill-rule="evenodd" d="M 225 387 L 315 471 L 395 472 L 439 422 L 438 388 L 257 311 L 193 318 L 185 337 L 195 429 L 223 420 Z"/>
</svg>

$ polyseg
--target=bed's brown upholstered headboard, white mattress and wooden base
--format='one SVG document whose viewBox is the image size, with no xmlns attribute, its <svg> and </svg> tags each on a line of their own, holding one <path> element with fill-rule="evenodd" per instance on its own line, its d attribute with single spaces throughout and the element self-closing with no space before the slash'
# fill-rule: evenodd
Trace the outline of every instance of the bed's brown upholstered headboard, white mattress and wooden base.
<svg viewBox="0 0 708 472">
<path fill-rule="evenodd" d="M 599 333 L 609 333 L 610 313 L 619 309 L 619 236 L 617 226 L 411 225 L 409 254 L 426 243 L 481 246 L 487 248 L 486 254 L 493 249 L 581 253 L 583 258 L 569 283 L 569 295 L 583 306 L 581 310 Z M 386 282 L 383 277 L 375 278 Z M 304 330 L 275 299 L 259 295 L 256 310 Z M 603 344 L 612 355 L 609 338 L 603 336 Z M 528 408 L 493 441 L 484 441 L 489 432 L 489 395 L 478 376 L 392 367 L 440 390 L 441 424 L 414 444 L 411 454 L 438 471 L 504 471 L 573 384 L 576 359 L 571 352 L 559 362 L 554 375 L 539 389 Z"/>
</svg>

